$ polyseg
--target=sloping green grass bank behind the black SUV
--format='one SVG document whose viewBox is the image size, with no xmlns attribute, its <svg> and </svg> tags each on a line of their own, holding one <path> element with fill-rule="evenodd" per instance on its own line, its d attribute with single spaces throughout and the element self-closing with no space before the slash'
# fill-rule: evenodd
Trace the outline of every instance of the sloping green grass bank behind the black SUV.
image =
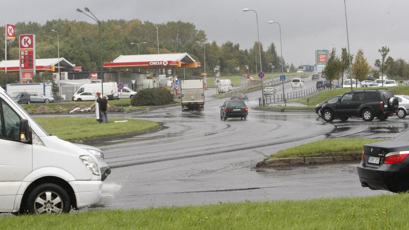
<svg viewBox="0 0 409 230">
<path fill-rule="evenodd" d="M 393 94 L 395 95 L 407 95 L 409 94 L 409 86 L 394 86 L 394 87 L 360 87 L 360 88 L 353 88 L 353 90 L 359 90 L 359 89 L 382 89 L 382 88 L 387 88 L 390 89 Z M 311 107 L 315 107 L 317 104 L 320 104 L 326 100 L 328 100 L 330 97 L 336 96 L 336 95 L 342 95 L 346 92 L 351 91 L 351 88 L 337 88 L 337 89 L 332 89 L 332 90 L 324 90 L 320 93 L 317 93 L 311 97 L 309 97 L 309 103 L 307 102 L 307 98 L 300 98 L 296 100 L 292 100 L 291 102 L 298 102 L 302 103 L 304 105 L 308 105 Z"/>
</svg>

